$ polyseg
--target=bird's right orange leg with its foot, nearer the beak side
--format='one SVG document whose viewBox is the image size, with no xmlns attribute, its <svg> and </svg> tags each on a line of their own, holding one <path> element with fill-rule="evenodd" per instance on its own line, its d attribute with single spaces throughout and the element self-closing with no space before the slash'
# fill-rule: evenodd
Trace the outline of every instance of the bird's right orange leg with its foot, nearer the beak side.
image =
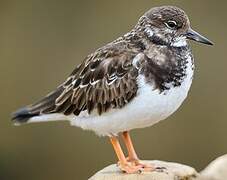
<svg viewBox="0 0 227 180">
<path fill-rule="evenodd" d="M 129 135 L 129 132 L 128 131 L 125 131 L 122 133 L 122 137 L 123 137 L 123 140 L 124 140 L 124 143 L 126 145 L 126 148 L 128 150 L 128 158 L 127 158 L 127 161 L 136 165 L 136 166 L 141 166 L 142 168 L 144 168 L 145 170 L 148 170 L 148 171 L 153 171 L 155 170 L 155 168 L 149 164 L 146 164 L 146 163 L 142 163 L 137 154 L 136 154 L 136 151 L 133 147 L 133 144 L 132 144 L 132 140 L 131 140 L 131 137 Z"/>
</svg>

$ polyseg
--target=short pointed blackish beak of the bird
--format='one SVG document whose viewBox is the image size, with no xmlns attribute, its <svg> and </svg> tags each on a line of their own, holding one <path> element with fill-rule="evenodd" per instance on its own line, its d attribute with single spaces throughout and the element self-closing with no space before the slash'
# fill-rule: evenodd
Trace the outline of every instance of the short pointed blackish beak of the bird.
<svg viewBox="0 0 227 180">
<path fill-rule="evenodd" d="M 194 40 L 194 41 L 197 41 L 197 42 L 200 42 L 203 44 L 213 45 L 213 43 L 209 39 L 205 38 L 204 36 L 197 33 L 196 31 L 194 31 L 191 28 L 186 33 L 186 37 L 187 37 L 187 39 Z"/>
</svg>

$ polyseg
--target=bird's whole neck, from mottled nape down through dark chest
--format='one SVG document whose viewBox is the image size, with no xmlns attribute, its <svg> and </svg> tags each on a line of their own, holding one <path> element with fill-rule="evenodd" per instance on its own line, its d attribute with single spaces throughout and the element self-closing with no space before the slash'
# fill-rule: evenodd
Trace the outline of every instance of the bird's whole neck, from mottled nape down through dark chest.
<svg viewBox="0 0 227 180">
<path fill-rule="evenodd" d="M 188 44 L 170 46 L 160 44 L 158 39 L 157 43 L 154 43 L 143 33 L 138 33 L 137 29 L 127 33 L 124 39 L 145 55 L 140 71 L 145 80 L 153 83 L 160 92 L 169 90 L 171 87 L 178 87 L 183 83 L 189 64 L 193 64 Z"/>
</svg>

